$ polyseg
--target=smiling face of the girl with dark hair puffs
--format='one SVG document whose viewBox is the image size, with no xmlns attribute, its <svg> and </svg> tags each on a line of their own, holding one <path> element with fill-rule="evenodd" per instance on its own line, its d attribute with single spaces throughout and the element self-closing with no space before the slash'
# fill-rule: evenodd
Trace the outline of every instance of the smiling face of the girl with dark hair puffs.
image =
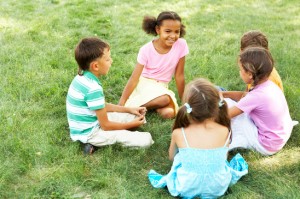
<svg viewBox="0 0 300 199">
<path fill-rule="evenodd" d="M 171 48 L 180 36 L 181 22 L 178 20 L 163 20 L 160 26 L 156 27 L 159 35 L 159 43 L 163 48 Z"/>
</svg>

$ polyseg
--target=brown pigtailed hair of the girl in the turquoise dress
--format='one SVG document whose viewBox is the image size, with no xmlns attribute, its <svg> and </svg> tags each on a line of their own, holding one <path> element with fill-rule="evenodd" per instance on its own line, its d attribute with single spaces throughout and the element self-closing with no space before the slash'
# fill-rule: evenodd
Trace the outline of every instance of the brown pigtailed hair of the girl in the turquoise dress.
<svg viewBox="0 0 300 199">
<path fill-rule="evenodd" d="M 210 118 L 230 130 L 227 104 L 220 99 L 218 89 L 208 80 L 199 78 L 190 82 L 184 90 L 183 103 L 188 103 L 192 111 L 188 113 L 186 106 L 181 106 L 176 115 L 173 130 L 187 127 L 191 120 L 203 122 Z"/>
</svg>

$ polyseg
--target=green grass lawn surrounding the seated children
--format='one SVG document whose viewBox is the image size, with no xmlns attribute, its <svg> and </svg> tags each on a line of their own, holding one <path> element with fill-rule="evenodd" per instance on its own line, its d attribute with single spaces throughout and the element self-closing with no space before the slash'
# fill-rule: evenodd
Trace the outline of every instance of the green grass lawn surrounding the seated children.
<svg viewBox="0 0 300 199">
<path fill-rule="evenodd" d="M 0 198 L 171 198 L 147 180 L 167 173 L 172 120 L 149 114 L 140 130 L 155 144 L 132 150 L 104 147 L 84 157 L 71 142 L 65 111 L 76 75 L 74 47 L 88 36 L 110 43 L 114 60 L 101 78 L 117 103 L 139 48 L 151 40 L 142 17 L 176 11 L 187 27 L 186 81 L 209 78 L 242 90 L 236 59 L 242 34 L 263 31 L 280 73 L 293 119 L 300 120 L 300 4 L 290 1 L 0 1 Z M 171 88 L 175 89 L 174 82 Z M 224 198 L 300 198 L 300 130 L 271 157 L 243 152 L 249 174 Z"/>
</svg>

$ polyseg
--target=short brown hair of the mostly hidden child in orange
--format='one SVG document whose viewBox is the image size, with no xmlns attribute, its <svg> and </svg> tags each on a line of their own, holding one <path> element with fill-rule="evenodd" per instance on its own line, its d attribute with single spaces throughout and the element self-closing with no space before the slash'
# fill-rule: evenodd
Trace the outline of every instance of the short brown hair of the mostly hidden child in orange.
<svg viewBox="0 0 300 199">
<path fill-rule="evenodd" d="M 241 38 L 241 51 L 247 47 L 261 46 L 265 49 L 269 49 L 269 42 L 262 32 L 258 30 L 251 30 L 243 34 Z"/>
</svg>

